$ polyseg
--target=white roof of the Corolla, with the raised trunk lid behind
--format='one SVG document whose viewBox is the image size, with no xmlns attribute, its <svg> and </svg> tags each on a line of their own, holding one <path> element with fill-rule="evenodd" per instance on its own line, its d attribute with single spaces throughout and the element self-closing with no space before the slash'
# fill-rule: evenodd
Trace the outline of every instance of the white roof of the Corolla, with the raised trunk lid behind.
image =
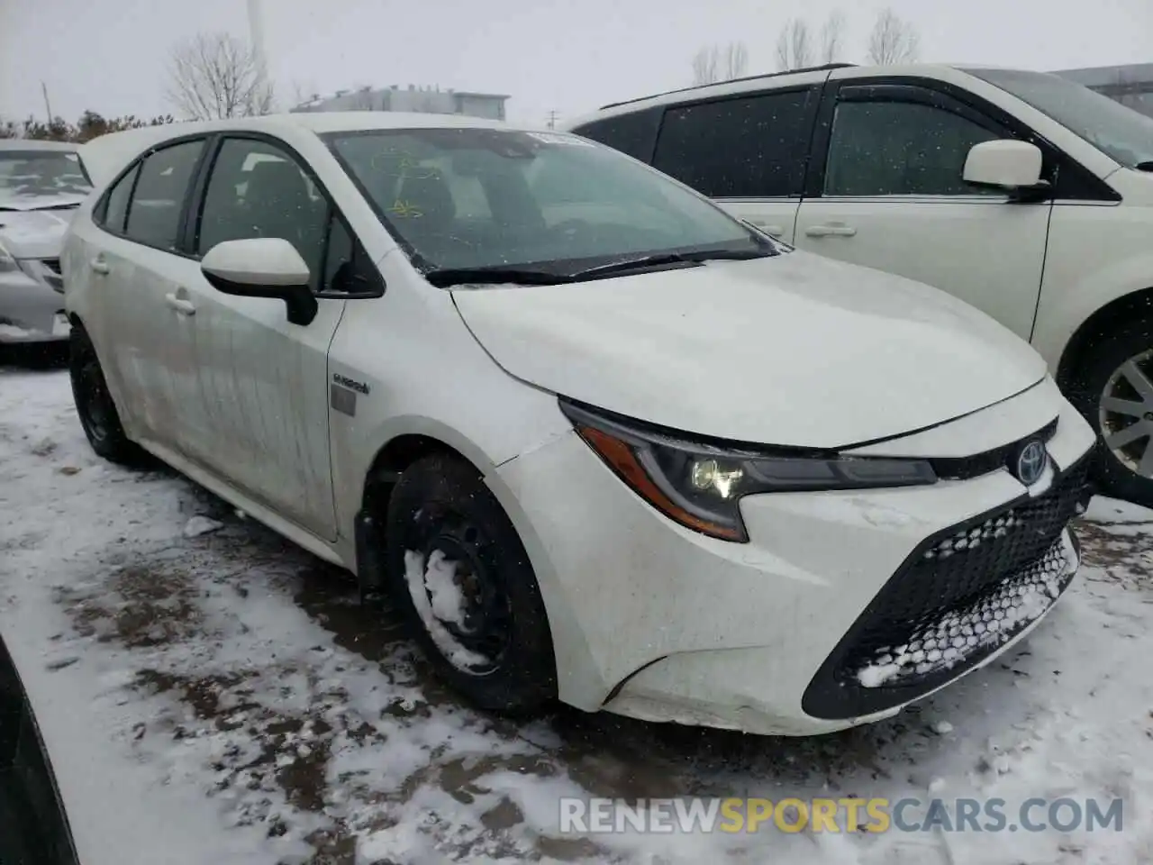
<svg viewBox="0 0 1153 865">
<path fill-rule="evenodd" d="M 97 186 L 120 173 L 133 159 L 172 138 L 198 133 L 256 131 L 270 135 L 293 129 L 316 134 L 364 131 L 374 129 L 507 129 L 510 131 L 548 131 L 538 127 L 517 126 L 503 120 L 488 120 L 465 114 L 425 114 L 399 111 L 315 111 L 265 114 L 226 120 L 190 120 L 160 126 L 145 126 L 110 133 L 81 148 L 81 158 Z"/>
</svg>

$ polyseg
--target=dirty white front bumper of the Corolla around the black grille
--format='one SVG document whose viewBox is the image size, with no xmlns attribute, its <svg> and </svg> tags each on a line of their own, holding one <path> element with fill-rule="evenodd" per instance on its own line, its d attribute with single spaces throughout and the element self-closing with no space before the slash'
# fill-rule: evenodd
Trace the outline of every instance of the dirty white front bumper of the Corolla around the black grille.
<svg viewBox="0 0 1153 865">
<path fill-rule="evenodd" d="M 1062 471 L 1037 488 L 1001 469 L 932 487 L 751 496 L 741 503 L 748 543 L 666 520 L 574 434 L 505 464 L 493 487 L 511 505 L 541 584 L 560 698 L 643 720 L 811 735 L 891 715 L 988 663 L 1043 618 L 1077 567 L 1065 525 L 1083 496 L 1093 434 L 1055 389 L 1030 399 L 1045 414 L 1031 408 L 1017 419 L 1024 432 L 1004 441 L 1060 414 L 1048 451 Z M 945 435 L 932 431 L 937 443 Z M 1035 541 L 1005 552 L 989 537 L 985 549 L 1002 550 L 995 561 L 973 558 L 971 567 L 925 579 L 926 552 L 958 532 L 984 532 L 990 519 L 995 533 L 1012 509 L 1040 514 L 1020 526 L 1020 537 Z M 1038 579 L 1034 567 L 1046 576 Z M 1004 608 L 992 604 L 1031 581 L 1054 589 L 1049 603 L 1030 604 L 1035 616 L 1017 617 L 1004 639 L 952 646 L 985 612 L 1000 622 Z M 937 649 L 926 642 L 941 625 L 950 640 L 942 657 L 944 648 L 958 650 L 918 671 Z M 920 661 L 902 659 L 896 672 L 862 676 L 918 652 Z"/>
</svg>

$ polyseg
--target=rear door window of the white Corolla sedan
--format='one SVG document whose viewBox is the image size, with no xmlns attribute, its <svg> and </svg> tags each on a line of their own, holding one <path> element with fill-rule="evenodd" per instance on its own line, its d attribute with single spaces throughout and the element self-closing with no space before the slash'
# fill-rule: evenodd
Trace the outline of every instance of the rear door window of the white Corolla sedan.
<svg viewBox="0 0 1153 865">
<path fill-rule="evenodd" d="M 159 249 L 176 248 L 184 195 L 203 149 L 203 141 L 187 141 L 144 158 L 128 206 L 125 234 L 129 240 Z"/>
</svg>

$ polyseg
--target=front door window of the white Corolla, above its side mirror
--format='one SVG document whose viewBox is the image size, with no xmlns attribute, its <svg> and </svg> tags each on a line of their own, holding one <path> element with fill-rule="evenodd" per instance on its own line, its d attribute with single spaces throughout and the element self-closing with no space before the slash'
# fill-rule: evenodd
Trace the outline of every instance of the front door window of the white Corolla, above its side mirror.
<svg viewBox="0 0 1153 865">
<path fill-rule="evenodd" d="M 196 234 L 204 255 L 226 240 L 284 238 L 322 279 L 329 202 L 288 151 L 255 138 L 225 138 L 212 163 Z"/>
</svg>

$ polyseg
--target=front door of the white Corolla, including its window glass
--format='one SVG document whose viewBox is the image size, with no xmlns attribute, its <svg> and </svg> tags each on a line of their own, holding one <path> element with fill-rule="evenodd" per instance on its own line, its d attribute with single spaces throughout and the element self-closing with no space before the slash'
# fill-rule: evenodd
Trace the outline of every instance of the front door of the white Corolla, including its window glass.
<svg viewBox="0 0 1153 865">
<path fill-rule="evenodd" d="M 225 240 L 284 238 L 319 291 L 336 221 L 327 198 L 278 143 L 226 137 L 218 146 L 197 219 L 197 256 Z M 193 260 L 181 292 L 199 382 L 184 450 L 246 495 L 336 540 L 327 364 L 345 301 L 321 296 L 311 323 L 292 324 L 281 301 L 221 294 Z"/>
</svg>

